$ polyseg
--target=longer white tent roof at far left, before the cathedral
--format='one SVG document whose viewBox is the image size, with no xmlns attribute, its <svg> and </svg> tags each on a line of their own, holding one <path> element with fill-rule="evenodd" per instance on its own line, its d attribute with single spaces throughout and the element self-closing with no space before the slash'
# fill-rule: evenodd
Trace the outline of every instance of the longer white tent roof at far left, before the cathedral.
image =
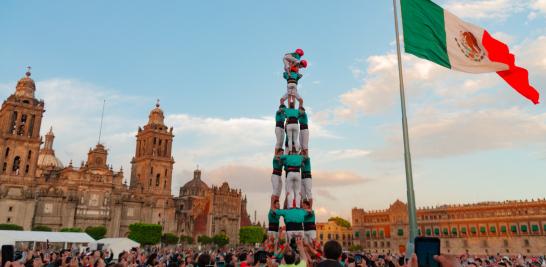
<svg viewBox="0 0 546 267">
<path fill-rule="evenodd" d="M 0 230 L 0 245 L 15 245 L 16 242 L 49 242 L 88 244 L 95 239 L 86 233 L 38 232 Z"/>
</svg>

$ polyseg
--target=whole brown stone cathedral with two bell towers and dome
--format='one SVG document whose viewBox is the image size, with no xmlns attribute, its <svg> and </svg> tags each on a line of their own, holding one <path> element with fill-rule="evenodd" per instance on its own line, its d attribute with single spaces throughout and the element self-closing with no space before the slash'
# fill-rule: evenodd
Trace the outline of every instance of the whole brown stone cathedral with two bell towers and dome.
<svg viewBox="0 0 546 267">
<path fill-rule="evenodd" d="M 164 123 L 159 103 L 138 128 L 130 184 L 123 169 L 108 164 L 101 143 L 89 149 L 80 166 L 64 166 L 55 156 L 50 128 L 40 136 L 45 103 L 35 97 L 30 71 L 0 109 L 0 223 L 30 230 L 45 225 L 103 225 L 108 237 L 127 236 L 136 222 L 159 224 L 164 233 L 213 236 L 238 242 L 239 228 L 250 225 L 246 197 L 227 183 L 209 187 L 195 170 L 193 179 L 171 194 L 173 128 Z"/>
</svg>

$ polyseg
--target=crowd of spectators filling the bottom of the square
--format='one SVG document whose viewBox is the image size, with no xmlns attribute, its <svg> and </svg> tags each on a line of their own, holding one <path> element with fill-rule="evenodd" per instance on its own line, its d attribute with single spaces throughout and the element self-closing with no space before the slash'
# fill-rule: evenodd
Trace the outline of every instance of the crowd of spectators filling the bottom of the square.
<svg viewBox="0 0 546 267">
<path fill-rule="evenodd" d="M 416 256 L 406 261 L 401 254 L 350 253 L 336 241 L 320 246 L 299 238 L 285 245 L 267 240 L 258 247 L 132 248 L 115 256 L 109 249 L 24 250 L 3 267 L 418 267 Z M 546 267 L 546 256 L 439 255 L 435 260 L 441 267 Z"/>
</svg>

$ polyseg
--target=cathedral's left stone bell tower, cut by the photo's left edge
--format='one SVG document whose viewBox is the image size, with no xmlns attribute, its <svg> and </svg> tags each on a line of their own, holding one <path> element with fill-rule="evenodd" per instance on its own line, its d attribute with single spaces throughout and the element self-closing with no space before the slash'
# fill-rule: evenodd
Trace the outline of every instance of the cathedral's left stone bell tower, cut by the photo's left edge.
<svg viewBox="0 0 546 267">
<path fill-rule="evenodd" d="M 0 174 L 33 179 L 40 151 L 44 102 L 34 97 L 30 67 L 0 109 Z"/>
</svg>

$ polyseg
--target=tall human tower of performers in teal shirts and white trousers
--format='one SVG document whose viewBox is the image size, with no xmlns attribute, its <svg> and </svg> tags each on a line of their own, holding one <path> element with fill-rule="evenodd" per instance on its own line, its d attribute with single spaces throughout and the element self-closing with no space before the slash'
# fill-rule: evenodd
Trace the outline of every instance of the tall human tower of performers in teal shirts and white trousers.
<svg viewBox="0 0 546 267">
<path fill-rule="evenodd" d="M 302 237 L 311 243 L 316 239 L 315 214 L 312 210 L 311 159 L 309 157 L 309 126 L 303 98 L 298 94 L 298 81 L 303 76 L 300 69 L 307 67 L 302 59 L 303 50 L 296 49 L 283 57 L 286 94 L 280 100 L 275 114 L 275 155 L 271 185 L 271 209 L 268 234 L 279 238 L 279 221 L 283 217 L 286 241 Z M 287 102 L 288 101 L 288 102 Z M 285 104 L 287 102 L 287 105 Z M 298 102 L 298 108 L 296 108 Z M 280 205 L 283 170 L 286 175 L 283 209 Z"/>
</svg>

